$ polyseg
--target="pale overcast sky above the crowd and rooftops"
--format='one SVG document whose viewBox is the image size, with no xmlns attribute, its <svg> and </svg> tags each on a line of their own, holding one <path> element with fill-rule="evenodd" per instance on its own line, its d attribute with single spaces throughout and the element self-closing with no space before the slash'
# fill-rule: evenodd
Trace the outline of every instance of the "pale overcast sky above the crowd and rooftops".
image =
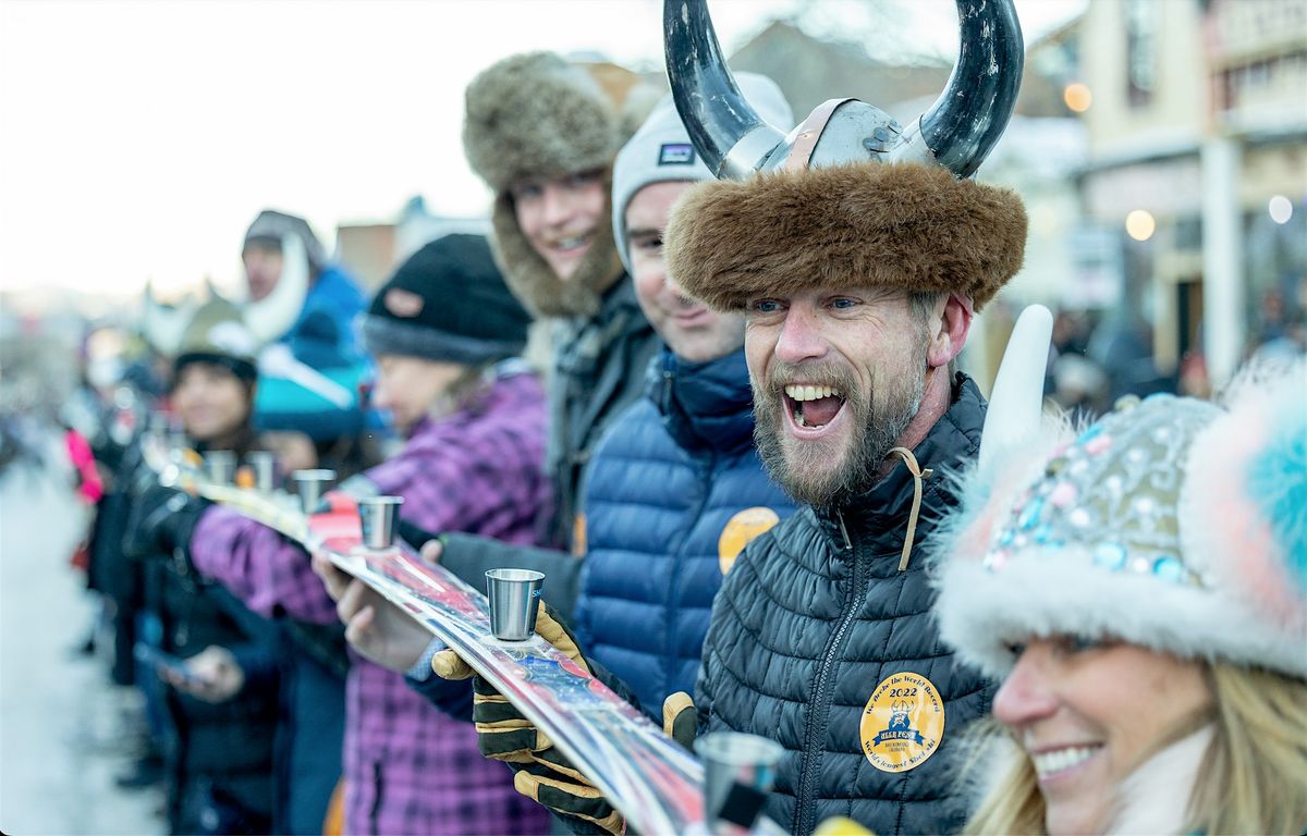
<svg viewBox="0 0 1307 836">
<path fill-rule="evenodd" d="M 1027 43 L 1084 3 L 1017 0 Z M 728 52 L 796 13 L 874 33 L 882 55 L 957 43 L 950 0 L 710 8 Z M 659 69 L 660 18 L 661 0 L 0 0 L 0 290 L 234 287 L 263 206 L 328 246 L 414 195 L 480 214 L 459 141 L 471 77 L 533 48 Z"/>
</svg>

